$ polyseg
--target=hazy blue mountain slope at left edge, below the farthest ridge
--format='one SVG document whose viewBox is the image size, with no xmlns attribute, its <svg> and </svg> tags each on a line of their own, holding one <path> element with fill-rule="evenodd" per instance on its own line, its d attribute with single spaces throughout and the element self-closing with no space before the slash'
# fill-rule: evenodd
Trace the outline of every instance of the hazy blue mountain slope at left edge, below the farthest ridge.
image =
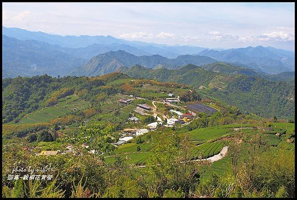
<svg viewBox="0 0 297 200">
<path fill-rule="evenodd" d="M 87 59 L 63 52 L 59 46 L 2 36 L 2 78 L 48 74 L 64 76 Z"/>
</svg>

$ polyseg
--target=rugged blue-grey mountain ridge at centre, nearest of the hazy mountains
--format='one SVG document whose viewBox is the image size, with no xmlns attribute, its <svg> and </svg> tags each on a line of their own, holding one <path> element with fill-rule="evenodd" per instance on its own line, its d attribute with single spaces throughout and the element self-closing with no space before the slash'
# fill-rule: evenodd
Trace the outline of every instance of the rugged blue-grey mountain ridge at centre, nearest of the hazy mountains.
<svg viewBox="0 0 297 200">
<path fill-rule="evenodd" d="M 164 68 L 177 69 L 189 63 L 204 65 L 213 62 L 216 62 L 216 60 L 207 56 L 180 55 L 175 59 L 170 59 L 161 55 L 136 56 L 123 50 L 118 50 L 102 53 L 91 58 L 88 63 L 75 68 L 70 75 L 97 76 L 116 71 L 121 66 L 131 67 L 137 64 L 146 68 L 155 68 L 162 65 Z"/>
</svg>

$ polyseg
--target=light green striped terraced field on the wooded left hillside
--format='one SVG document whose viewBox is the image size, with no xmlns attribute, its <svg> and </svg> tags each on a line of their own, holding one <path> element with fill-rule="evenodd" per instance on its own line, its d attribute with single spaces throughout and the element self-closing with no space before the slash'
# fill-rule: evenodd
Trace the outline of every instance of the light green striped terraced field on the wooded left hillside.
<svg viewBox="0 0 297 200">
<path fill-rule="evenodd" d="M 88 107 L 89 103 L 87 101 L 79 100 L 77 96 L 70 95 L 59 99 L 56 105 L 45 107 L 25 115 L 17 124 L 49 122 L 52 119 L 63 117 L 75 109 L 83 110 Z"/>
</svg>

